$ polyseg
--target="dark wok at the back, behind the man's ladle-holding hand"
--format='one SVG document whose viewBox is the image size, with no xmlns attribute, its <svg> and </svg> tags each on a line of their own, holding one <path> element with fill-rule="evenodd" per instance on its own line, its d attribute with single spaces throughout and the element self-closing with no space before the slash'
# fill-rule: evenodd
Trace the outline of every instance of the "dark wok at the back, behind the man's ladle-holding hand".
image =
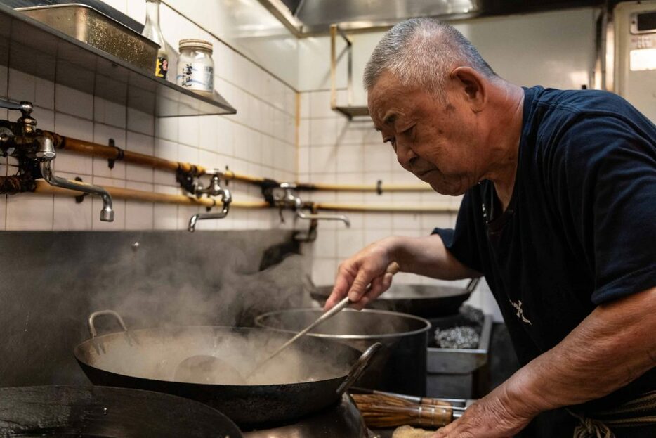
<svg viewBox="0 0 656 438">
<path fill-rule="evenodd" d="M 367 304 L 369 309 L 399 311 L 422 318 L 438 318 L 458 313 L 461 304 L 478 285 L 473 278 L 466 288 L 448 285 L 404 285 L 392 284 L 380 297 Z M 324 304 L 332 292 L 331 286 L 320 286 L 311 292 L 313 299 Z"/>
</svg>

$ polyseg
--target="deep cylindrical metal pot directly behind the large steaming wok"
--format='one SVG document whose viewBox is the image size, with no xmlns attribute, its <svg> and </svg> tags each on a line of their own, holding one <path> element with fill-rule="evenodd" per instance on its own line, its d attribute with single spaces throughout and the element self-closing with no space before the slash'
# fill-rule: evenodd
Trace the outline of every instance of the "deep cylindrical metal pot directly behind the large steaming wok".
<svg viewBox="0 0 656 438">
<path fill-rule="evenodd" d="M 257 326 L 281 333 L 298 333 L 322 314 L 321 309 L 273 311 L 256 318 Z M 393 311 L 344 309 L 308 333 L 364 351 L 383 344 L 358 386 L 403 394 L 426 394 L 426 344 L 431 323 Z"/>
</svg>

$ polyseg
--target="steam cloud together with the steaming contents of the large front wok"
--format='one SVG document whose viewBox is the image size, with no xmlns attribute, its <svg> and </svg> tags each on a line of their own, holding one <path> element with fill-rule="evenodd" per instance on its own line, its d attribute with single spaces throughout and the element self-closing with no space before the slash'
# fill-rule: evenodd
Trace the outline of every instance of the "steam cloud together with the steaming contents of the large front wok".
<svg viewBox="0 0 656 438">
<path fill-rule="evenodd" d="M 340 356 L 320 343 L 310 350 L 289 348 L 244 380 L 289 336 L 263 329 L 234 333 L 227 327 L 254 326 L 254 318 L 268 311 L 309 307 L 312 284 L 307 257 L 289 254 L 277 264 L 264 263 L 261 257 L 271 235 L 234 236 L 218 239 L 220 251 L 207 250 L 208 239 L 217 238 L 217 233 L 195 233 L 183 236 L 188 252 L 181 253 L 180 241 L 157 242 L 109 257 L 99 277 L 111 287 L 90 297 L 91 308 L 117 311 L 129 332 L 91 341 L 84 361 L 134 377 L 221 385 L 297 383 L 346 375 L 357 352 L 343 349 Z M 280 242 L 281 237 L 274 239 Z M 265 254 L 276 254 L 280 246 Z M 171 248 L 176 248 L 172 254 Z M 258 266 L 269 267 L 257 271 Z M 107 317 L 98 318 L 96 326 L 100 334 L 117 331 Z"/>
</svg>

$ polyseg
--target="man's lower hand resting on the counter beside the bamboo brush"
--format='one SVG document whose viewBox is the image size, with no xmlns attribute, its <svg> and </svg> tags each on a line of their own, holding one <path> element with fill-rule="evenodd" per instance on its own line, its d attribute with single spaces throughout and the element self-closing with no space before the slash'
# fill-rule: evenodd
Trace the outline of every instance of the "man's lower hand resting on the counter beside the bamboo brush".
<svg viewBox="0 0 656 438">
<path fill-rule="evenodd" d="M 469 406 L 461 418 L 435 432 L 433 438 L 513 437 L 534 417 L 524 406 L 515 404 L 501 385 Z"/>
</svg>

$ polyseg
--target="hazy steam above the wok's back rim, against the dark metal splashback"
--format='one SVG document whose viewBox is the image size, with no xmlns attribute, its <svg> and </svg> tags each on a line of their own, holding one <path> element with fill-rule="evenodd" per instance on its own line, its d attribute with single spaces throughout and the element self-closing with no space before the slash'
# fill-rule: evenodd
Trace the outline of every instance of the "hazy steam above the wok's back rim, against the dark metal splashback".
<svg viewBox="0 0 656 438">
<path fill-rule="evenodd" d="M 131 256 L 114 264 L 132 264 Z M 257 264 L 245 259 L 239 248 L 231 248 L 221 260 L 133 264 L 136 275 L 115 278 L 113 288 L 91 298 L 91 308 L 113 309 L 129 327 L 252 326 L 266 311 L 310 305 L 304 257 L 289 255 L 265 271 L 244 273 Z M 124 271 L 112 266 L 107 270 Z M 107 321 L 99 324 L 115 331 Z"/>
</svg>

